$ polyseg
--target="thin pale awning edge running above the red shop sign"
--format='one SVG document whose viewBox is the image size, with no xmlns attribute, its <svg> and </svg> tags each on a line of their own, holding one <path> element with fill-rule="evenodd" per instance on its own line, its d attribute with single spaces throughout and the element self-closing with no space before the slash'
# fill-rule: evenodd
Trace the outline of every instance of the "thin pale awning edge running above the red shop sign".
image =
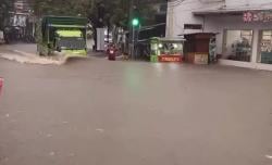
<svg viewBox="0 0 272 165">
<path fill-rule="evenodd" d="M 210 8 L 203 10 L 193 11 L 194 15 L 218 15 L 218 14 L 230 14 L 230 15 L 240 15 L 246 11 L 271 11 L 272 4 L 261 4 L 261 5 L 244 5 L 244 7 L 220 7 Z"/>
</svg>

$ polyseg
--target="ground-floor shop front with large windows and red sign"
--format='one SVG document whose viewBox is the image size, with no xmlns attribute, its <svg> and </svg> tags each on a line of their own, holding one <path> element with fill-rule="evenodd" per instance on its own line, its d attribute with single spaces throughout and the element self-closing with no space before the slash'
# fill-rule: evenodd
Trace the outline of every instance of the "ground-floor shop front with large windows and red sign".
<svg viewBox="0 0 272 165">
<path fill-rule="evenodd" d="M 272 12 L 224 10 L 195 12 L 203 31 L 217 33 L 219 63 L 272 71 Z"/>
</svg>

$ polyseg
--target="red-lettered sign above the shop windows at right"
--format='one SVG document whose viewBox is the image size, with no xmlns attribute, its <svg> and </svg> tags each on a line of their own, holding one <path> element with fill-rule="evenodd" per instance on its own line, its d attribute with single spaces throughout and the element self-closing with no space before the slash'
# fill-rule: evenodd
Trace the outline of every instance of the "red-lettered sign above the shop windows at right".
<svg viewBox="0 0 272 165">
<path fill-rule="evenodd" d="M 254 11 L 245 12 L 243 20 L 246 23 L 250 22 L 272 22 L 272 11 Z"/>
</svg>

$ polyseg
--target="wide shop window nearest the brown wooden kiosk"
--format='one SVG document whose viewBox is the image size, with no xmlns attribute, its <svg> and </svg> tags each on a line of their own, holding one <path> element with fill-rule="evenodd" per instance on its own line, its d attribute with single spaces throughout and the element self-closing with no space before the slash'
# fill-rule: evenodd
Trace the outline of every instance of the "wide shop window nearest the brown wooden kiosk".
<svg viewBox="0 0 272 165">
<path fill-rule="evenodd" d="M 252 54 L 252 30 L 225 30 L 223 58 L 250 62 Z"/>
</svg>

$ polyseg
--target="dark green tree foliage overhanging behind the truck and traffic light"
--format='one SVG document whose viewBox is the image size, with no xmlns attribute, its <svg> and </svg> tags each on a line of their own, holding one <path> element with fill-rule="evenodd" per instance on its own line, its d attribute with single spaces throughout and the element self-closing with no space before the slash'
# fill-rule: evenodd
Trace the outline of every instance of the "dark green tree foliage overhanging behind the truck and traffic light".
<svg viewBox="0 0 272 165">
<path fill-rule="evenodd" d="M 94 27 L 116 26 L 128 28 L 129 0 L 29 0 L 33 2 L 36 15 L 71 15 L 86 16 Z M 136 1 L 136 0 L 135 0 Z M 165 0 L 156 0 L 165 1 Z M 154 10 L 149 0 L 138 1 L 140 23 L 150 24 Z M 102 12 L 101 12 L 102 10 Z M 100 14 L 99 14 L 100 12 Z"/>
</svg>

